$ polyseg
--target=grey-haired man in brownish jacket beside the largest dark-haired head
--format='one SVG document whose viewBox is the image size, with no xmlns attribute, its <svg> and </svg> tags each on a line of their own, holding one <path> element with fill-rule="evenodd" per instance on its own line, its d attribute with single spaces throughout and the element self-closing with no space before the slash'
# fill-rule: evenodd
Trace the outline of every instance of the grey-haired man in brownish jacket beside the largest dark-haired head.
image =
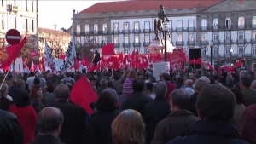
<svg viewBox="0 0 256 144">
<path fill-rule="evenodd" d="M 172 113 L 156 125 L 154 140 L 151 143 L 166 144 L 199 120 L 192 112 L 186 110 L 188 106 L 188 92 L 184 89 L 173 90 L 170 94 Z"/>
</svg>

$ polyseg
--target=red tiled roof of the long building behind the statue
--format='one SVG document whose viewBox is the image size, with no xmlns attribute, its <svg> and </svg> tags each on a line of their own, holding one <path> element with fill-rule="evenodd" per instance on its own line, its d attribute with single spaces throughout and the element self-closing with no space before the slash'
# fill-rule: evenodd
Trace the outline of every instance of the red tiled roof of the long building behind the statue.
<svg viewBox="0 0 256 144">
<path fill-rule="evenodd" d="M 82 10 L 79 14 L 107 13 L 107 12 L 125 12 L 139 10 L 158 10 L 161 4 L 165 9 L 191 9 L 207 8 L 222 0 L 133 0 L 119 2 L 96 3 L 87 9 Z"/>
</svg>

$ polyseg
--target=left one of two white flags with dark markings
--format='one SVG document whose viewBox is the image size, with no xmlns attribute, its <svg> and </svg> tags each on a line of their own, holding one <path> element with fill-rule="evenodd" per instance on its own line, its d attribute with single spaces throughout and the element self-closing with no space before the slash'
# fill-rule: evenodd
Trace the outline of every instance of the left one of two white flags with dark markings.
<svg viewBox="0 0 256 144">
<path fill-rule="evenodd" d="M 44 54 L 45 54 L 45 61 L 44 61 L 45 68 L 47 67 L 47 68 L 51 69 L 52 71 L 55 71 L 55 62 L 53 60 L 51 50 L 50 50 L 49 45 L 46 42 L 46 40 L 45 40 Z"/>
</svg>

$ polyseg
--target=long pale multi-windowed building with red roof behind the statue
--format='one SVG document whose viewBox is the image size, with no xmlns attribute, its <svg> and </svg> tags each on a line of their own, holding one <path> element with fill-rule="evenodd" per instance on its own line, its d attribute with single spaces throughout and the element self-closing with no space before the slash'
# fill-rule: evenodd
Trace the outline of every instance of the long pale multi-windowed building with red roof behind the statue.
<svg viewBox="0 0 256 144">
<path fill-rule="evenodd" d="M 230 65 L 243 57 L 248 66 L 256 62 L 256 2 L 249 0 L 96 3 L 73 14 L 77 47 L 94 43 L 89 49 L 99 50 L 106 43 L 114 43 L 116 53 L 127 54 L 133 49 L 148 53 L 160 4 L 166 7 L 169 38 L 177 49 L 201 48 L 201 57 L 209 61 L 212 42 L 212 61 L 218 65 Z"/>
</svg>

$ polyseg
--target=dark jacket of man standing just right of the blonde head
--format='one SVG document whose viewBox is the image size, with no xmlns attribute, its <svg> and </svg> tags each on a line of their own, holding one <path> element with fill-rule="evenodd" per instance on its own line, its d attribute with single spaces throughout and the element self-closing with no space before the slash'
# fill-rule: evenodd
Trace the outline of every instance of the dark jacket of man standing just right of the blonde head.
<svg viewBox="0 0 256 144">
<path fill-rule="evenodd" d="M 145 107 L 144 122 L 146 124 L 146 144 L 154 138 L 156 124 L 166 118 L 171 113 L 170 104 L 165 97 L 156 97 L 154 101 Z"/>
</svg>

